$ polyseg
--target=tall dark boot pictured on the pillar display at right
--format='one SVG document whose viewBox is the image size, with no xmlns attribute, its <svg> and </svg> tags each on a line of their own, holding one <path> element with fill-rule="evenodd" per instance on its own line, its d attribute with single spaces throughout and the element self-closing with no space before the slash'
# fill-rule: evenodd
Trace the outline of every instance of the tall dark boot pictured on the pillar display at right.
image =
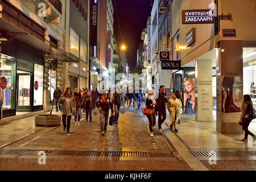
<svg viewBox="0 0 256 182">
<path fill-rule="evenodd" d="M 234 85 L 234 77 L 224 77 L 222 81 L 222 85 L 224 86 L 226 92 L 226 100 L 225 100 L 225 113 L 237 113 L 240 112 L 240 107 L 237 107 L 233 101 L 233 85 Z"/>
</svg>

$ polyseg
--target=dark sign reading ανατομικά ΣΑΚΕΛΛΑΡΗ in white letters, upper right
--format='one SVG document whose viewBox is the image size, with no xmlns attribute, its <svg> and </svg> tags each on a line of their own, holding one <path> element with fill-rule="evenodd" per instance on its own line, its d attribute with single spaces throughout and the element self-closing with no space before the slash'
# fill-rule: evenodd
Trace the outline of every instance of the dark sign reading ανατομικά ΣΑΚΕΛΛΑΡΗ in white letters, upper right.
<svg viewBox="0 0 256 182">
<path fill-rule="evenodd" d="M 213 10 L 182 10 L 182 24 L 214 23 Z"/>
</svg>

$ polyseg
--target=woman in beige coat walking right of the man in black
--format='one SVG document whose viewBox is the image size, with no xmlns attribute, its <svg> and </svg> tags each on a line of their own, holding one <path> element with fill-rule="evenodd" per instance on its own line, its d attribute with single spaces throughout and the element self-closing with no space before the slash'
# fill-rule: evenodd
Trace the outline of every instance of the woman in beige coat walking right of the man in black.
<svg viewBox="0 0 256 182">
<path fill-rule="evenodd" d="M 177 107 L 177 102 L 175 101 L 175 93 L 172 93 L 172 98 L 170 98 L 170 100 L 168 100 L 168 104 L 167 104 L 167 109 L 170 113 L 170 121 L 172 122 L 170 127 L 171 130 L 173 130 L 174 127 L 174 132 L 178 133 L 177 128 L 176 128 L 176 107 Z"/>
</svg>

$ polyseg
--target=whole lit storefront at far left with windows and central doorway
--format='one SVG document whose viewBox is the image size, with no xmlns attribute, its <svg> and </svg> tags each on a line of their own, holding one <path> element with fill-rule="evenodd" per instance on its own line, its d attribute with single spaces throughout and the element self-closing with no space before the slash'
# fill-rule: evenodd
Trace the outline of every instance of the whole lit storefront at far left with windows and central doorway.
<svg viewBox="0 0 256 182">
<path fill-rule="evenodd" d="M 10 42 L 0 53 L 3 87 L 3 117 L 43 110 L 43 55 L 22 44 Z"/>
</svg>

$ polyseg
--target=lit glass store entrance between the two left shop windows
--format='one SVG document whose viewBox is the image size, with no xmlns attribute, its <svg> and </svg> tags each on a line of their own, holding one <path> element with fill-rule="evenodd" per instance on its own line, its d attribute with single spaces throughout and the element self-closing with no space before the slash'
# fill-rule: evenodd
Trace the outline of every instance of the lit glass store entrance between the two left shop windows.
<svg viewBox="0 0 256 182">
<path fill-rule="evenodd" d="M 32 73 L 17 71 L 16 111 L 32 112 Z"/>
</svg>

